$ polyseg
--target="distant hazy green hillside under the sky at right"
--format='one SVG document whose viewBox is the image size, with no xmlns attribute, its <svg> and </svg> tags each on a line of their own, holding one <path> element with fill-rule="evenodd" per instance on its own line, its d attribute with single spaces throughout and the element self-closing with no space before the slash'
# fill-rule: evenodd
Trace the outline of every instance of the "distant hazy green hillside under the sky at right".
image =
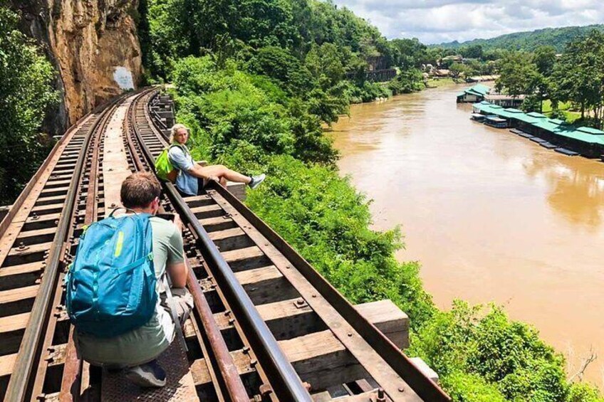
<svg viewBox="0 0 604 402">
<path fill-rule="evenodd" d="M 604 31 L 604 24 L 588 25 L 588 26 L 565 26 L 563 28 L 544 28 L 537 29 L 531 32 L 516 32 L 506 35 L 497 36 L 491 39 L 474 39 L 459 43 L 458 41 L 439 43 L 442 48 L 459 48 L 460 46 L 481 45 L 484 49 L 509 49 L 533 51 L 541 45 L 551 45 L 556 48 L 556 51 L 562 52 L 564 46 L 569 41 L 572 41 L 577 36 L 584 35 L 592 29 Z"/>
</svg>

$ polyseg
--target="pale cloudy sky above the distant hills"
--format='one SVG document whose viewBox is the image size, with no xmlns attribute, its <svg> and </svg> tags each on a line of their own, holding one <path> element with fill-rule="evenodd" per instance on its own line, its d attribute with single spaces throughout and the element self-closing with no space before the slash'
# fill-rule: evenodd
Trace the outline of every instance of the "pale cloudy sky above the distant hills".
<svg viewBox="0 0 604 402">
<path fill-rule="evenodd" d="M 469 41 L 504 33 L 604 23 L 604 0 L 333 0 L 387 38 Z"/>
</svg>

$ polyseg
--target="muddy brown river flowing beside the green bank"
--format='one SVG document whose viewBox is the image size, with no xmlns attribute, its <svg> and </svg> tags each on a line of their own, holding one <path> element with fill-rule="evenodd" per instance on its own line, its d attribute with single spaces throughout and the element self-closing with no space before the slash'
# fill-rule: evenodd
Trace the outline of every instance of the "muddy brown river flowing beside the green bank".
<svg viewBox="0 0 604 402">
<path fill-rule="evenodd" d="M 441 308 L 494 301 L 577 370 L 604 378 L 604 163 L 566 157 L 469 120 L 462 85 L 353 105 L 333 127 L 341 174 L 400 225 Z"/>
</svg>

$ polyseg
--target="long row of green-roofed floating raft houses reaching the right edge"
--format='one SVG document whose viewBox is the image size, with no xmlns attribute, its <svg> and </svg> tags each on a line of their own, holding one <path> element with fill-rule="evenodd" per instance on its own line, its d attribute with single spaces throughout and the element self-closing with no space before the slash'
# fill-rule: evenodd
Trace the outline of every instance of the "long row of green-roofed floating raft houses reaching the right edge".
<svg viewBox="0 0 604 402">
<path fill-rule="evenodd" d="M 565 151 L 578 152 L 588 158 L 598 158 L 604 155 L 604 131 L 600 129 L 575 127 L 562 120 L 548 119 L 541 113 L 524 113 L 518 109 L 506 109 L 484 100 L 474 103 L 472 109 L 474 113 L 485 115 L 485 124 L 488 124 L 488 118 L 491 115 L 506 120 L 506 127 L 515 129 L 514 133 L 521 137 L 545 139 Z"/>
</svg>

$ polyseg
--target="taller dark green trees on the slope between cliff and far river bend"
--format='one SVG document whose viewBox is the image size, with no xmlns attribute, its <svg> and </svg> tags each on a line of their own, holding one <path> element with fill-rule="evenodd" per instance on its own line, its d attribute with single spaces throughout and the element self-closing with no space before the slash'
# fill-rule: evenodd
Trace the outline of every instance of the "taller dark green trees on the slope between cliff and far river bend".
<svg viewBox="0 0 604 402">
<path fill-rule="evenodd" d="M 328 2 L 146 0 L 139 12 L 152 16 L 142 21 L 141 43 L 150 73 L 160 80 L 188 55 L 210 55 L 221 68 L 236 60 L 311 104 L 328 123 L 351 102 L 421 89 L 417 60 L 405 64 L 377 28 Z M 402 74 L 392 85 L 366 80 L 370 67 L 393 66 Z"/>
</svg>

